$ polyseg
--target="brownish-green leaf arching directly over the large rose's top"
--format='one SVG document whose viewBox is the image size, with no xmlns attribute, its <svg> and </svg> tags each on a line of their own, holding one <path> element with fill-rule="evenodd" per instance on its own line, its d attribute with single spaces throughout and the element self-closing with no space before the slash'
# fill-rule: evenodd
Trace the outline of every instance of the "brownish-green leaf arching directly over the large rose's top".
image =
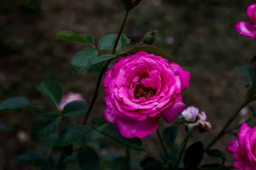
<svg viewBox="0 0 256 170">
<path fill-rule="evenodd" d="M 172 56 L 170 56 L 169 54 L 167 54 L 160 48 L 152 47 L 152 46 L 142 46 L 142 47 L 135 48 L 134 50 L 130 51 L 129 54 L 135 54 L 138 51 L 145 51 L 148 54 L 154 54 L 156 56 L 161 56 L 165 59 L 174 59 Z"/>
</svg>

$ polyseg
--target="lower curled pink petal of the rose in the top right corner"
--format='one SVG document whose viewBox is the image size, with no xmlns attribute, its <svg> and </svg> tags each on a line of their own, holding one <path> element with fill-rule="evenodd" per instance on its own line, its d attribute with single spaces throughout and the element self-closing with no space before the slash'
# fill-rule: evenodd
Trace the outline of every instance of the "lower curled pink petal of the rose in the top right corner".
<svg viewBox="0 0 256 170">
<path fill-rule="evenodd" d="M 253 39 L 256 38 L 256 28 L 251 23 L 240 21 L 236 23 L 235 28 L 241 35 L 248 36 Z"/>
</svg>

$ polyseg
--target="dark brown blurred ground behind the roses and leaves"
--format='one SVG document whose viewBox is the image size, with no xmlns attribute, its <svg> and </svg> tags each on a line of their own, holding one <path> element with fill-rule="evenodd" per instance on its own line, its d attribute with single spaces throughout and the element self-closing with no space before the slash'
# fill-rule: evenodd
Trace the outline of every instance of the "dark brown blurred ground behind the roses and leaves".
<svg viewBox="0 0 256 170">
<path fill-rule="evenodd" d="M 191 73 L 191 83 L 183 93 L 183 100 L 187 106 L 199 106 L 207 113 L 212 131 L 195 133 L 189 144 L 198 140 L 208 144 L 245 98 L 246 82 L 234 67 L 250 64 L 256 54 L 256 41 L 239 35 L 234 26 L 240 20 L 250 22 L 246 8 L 252 3 L 256 2 L 143 0 L 130 12 L 124 34 L 131 39 L 131 45 L 125 49 L 139 43 L 145 32 L 158 29 L 154 45 L 172 55 L 175 62 Z M 26 96 L 51 111 L 52 106 L 35 85 L 57 80 L 65 94 L 79 92 L 90 102 L 96 75 L 72 73 L 70 69 L 74 55 L 87 46 L 55 40 L 55 34 L 58 31 L 93 34 L 97 45 L 100 37 L 119 30 L 124 14 L 120 0 L 9 0 L 0 4 L 1 98 Z M 90 117 L 104 110 L 102 99 L 103 94 L 97 99 L 97 107 Z M 0 170 L 32 170 L 32 167 L 18 164 L 15 157 L 29 150 L 42 150 L 39 143 L 34 144 L 29 139 L 30 127 L 38 116 L 35 111 L 0 115 L 0 122 L 10 128 L 9 132 L 0 132 Z M 165 127 L 167 125 L 161 122 L 160 129 Z M 179 132 L 178 144 L 185 136 L 182 126 Z M 214 146 L 227 153 L 227 165 L 233 164 L 232 155 L 226 150 L 231 139 L 236 138 L 227 135 Z M 131 154 L 159 158 L 161 147 L 156 134 L 143 141 L 148 153 L 133 151 Z M 106 139 L 106 143 L 107 149 L 99 152 L 102 156 L 124 153 L 116 142 Z M 220 161 L 205 158 L 205 162 Z"/>
</svg>

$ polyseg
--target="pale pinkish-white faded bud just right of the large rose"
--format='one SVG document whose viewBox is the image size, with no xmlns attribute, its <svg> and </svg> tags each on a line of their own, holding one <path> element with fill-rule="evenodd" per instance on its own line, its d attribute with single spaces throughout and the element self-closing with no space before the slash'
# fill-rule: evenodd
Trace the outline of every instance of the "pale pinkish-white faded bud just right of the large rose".
<svg viewBox="0 0 256 170">
<path fill-rule="evenodd" d="M 196 122 L 199 114 L 199 109 L 194 106 L 189 106 L 186 108 L 182 113 L 180 113 L 180 119 L 187 123 L 194 123 Z"/>
</svg>

